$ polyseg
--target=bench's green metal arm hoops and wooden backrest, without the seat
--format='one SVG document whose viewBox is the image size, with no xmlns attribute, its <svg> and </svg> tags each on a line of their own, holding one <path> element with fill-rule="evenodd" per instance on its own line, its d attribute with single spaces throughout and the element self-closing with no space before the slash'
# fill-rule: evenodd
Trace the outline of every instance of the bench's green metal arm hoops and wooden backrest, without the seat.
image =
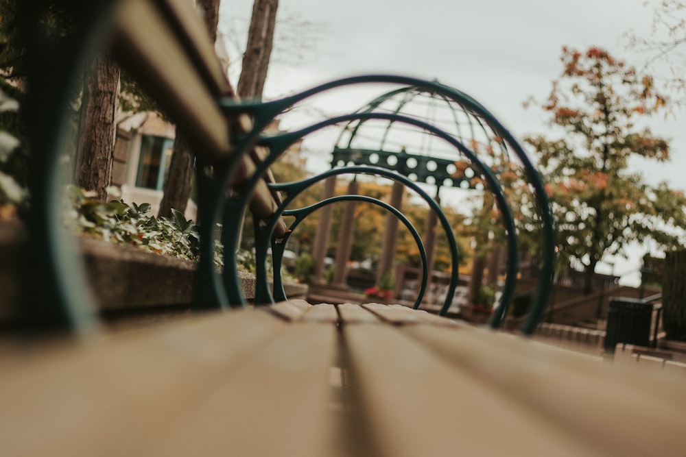
<svg viewBox="0 0 686 457">
<path fill-rule="evenodd" d="M 532 334 L 549 295 L 554 262 L 552 214 L 549 211 L 543 183 L 523 149 L 508 130 L 477 101 L 438 82 L 427 82 L 421 79 L 393 75 L 369 75 L 341 79 L 267 103 L 237 101 L 213 57 L 211 46 L 206 40 L 203 40 L 206 37 L 202 36 L 200 22 L 198 21 L 197 24 L 193 25 L 187 23 L 187 17 L 192 15 L 192 12 L 189 13 L 185 10 L 185 8 L 189 8 L 185 1 L 121 2 L 121 5 L 118 5 L 117 10 L 112 14 L 109 14 L 109 8 L 115 7 L 98 5 L 97 7 L 78 9 L 79 14 L 82 15 L 80 21 L 84 24 L 83 36 L 77 37 L 78 44 L 75 47 L 70 47 L 67 50 L 67 55 L 62 55 L 58 52 L 60 50 L 49 49 L 45 45 L 36 47 L 34 51 L 36 55 L 40 51 L 45 53 L 43 57 L 37 58 L 35 61 L 36 65 L 43 66 L 43 69 L 35 69 L 36 81 L 33 84 L 37 88 L 33 117 L 36 119 L 34 127 L 36 127 L 37 132 L 34 136 L 36 139 L 40 139 L 40 142 L 37 141 L 33 145 L 36 151 L 34 154 L 36 158 L 36 164 L 34 164 L 36 190 L 34 190 L 35 219 L 32 228 L 36 230 L 36 239 L 43 242 L 43 244 L 36 245 L 34 262 L 38 262 L 39 258 L 44 259 L 46 254 L 49 260 L 42 262 L 45 264 L 45 269 L 42 272 L 43 275 L 39 275 L 42 277 L 45 286 L 36 288 L 45 295 L 44 297 L 36 297 L 34 302 L 47 304 L 47 302 L 54 300 L 48 300 L 45 297 L 57 297 L 58 299 L 58 304 L 50 309 L 41 305 L 40 309 L 31 310 L 29 316 L 34 321 L 38 322 L 38 317 L 45 315 L 46 319 L 43 320 L 46 325 L 61 322 L 60 325 L 82 326 L 84 328 L 89 325 L 88 322 L 92 321 L 89 317 L 89 314 L 92 314 L 92 306 L 88 304 L 90 299 L 84 293 L 87 291 L 87 287 L 80 280 L 82 275 L 71 274 L 72 271 L 78 271 L 78 262 L 73 261 L 73 253 L 67 247 L 69 240 L 64 239 L 58 230 L 59 214 L 56 208 L 59 207 L 60 180 L 58 180 L 58 168 L 55 161 L 59 156 L 60 132 L 64 130 L 62 128 L 64 126 L 60 123 L 64 123 L 66 119 L 63 113 L 66 109 L 67 99 L 58 97 L 52 88 L 58 84 L 58 87 L 65 88 L 64 92 L 70 93 L 66 89 L 69 88 L 70 84 L 74 84 L 79 74 L 78 70 L 72 68 L 78 68 L 78 59 L 81 58 L 80 56 L 85 53 L 87 48 L 83 43 L 97 42 L 97 38 L 102 36 L 103 30 L 106 30 L 109 31 L 108 36 L 116 38 L 113 48 L 116 55 L 119 56 L 119 60 L 132 75 L 139 79 L 141 85 L 150 91 L 161 108 L 174 119 L 179 128 L 188 132 L 193 150 L 196 151 L 200 191 L 200 227 L 202 230 L 198 296 L 196 297 L 198 308 L 226 308 L 244 306 L 245 304 L 245 299 L 239 291 L 237 262 L 233 257 L 237 251 L 237 242 L 241 230 L 241 220 L 236 217 L 237 214 L 243 214 L 250 208 L 255 213 L 257 220 L 263 222 L 256 226 L 255 233 L 258 260 L 256 301 L 257 303 L 268 303 L 273 302 L 274 299 L 277 301 L 286 299 L 281 286 L 279 265 L 281 264 L 285 242 L 290 234 L 296 230 L 303 219 L 315 210 L 344 200 L 367 201 L 381 206 L 399 217 L 410 230 L 417 242 L 423 261 L 421 288 L 415 301 L 415 307 L 418 306 L 427 284 L 427 258 L 421 243 L 421 236 L 397 210 L 388 206 L 387 203 L 359 195 L 335 197 L 321 201 L 311 208 L 298 210 L 287 208 L 299 193 L 329 176 L 364 173 L 401 182 L 425 199 L 431 209 L 438 214 L 442 230 L 449 240 L 452 255 L 451 283 L 441 314 L 447 312 L 458 282 L 458 251 L 452 227 L 442 214 L 438 204 L 429 197 L 425 190 L 407 177 L 378 166 L 333 169 L 309 180 L 296 183 L 276 184 L 270 179 L 270 164 L 278 160 L 283 151 L 300 138 L 329 125 L 375 119 L 405 123 L 412 127 L 424 129 L 428 134 L 444 140 L 445 143 L 454 148 L 456 158 L 463 158 L 471 162 L 475 173 L 483 177 L 493 193 L 504 219 L 508 242 L 506 283 L 500 304 L 490 322 L 493 328 L 499 327 L 514 294 L 514 284 L 517 279 L 517 258 L 519 256 L 517 228 L 514 225 L 512 211 L 499 185 L 497 176 L 468 145 L 425 121 L 383 112 L 356 112 L 337 116 L 297 132 L 286 134 L 265 136 L 262 133 L 263 129 L 276 116 L 299 101 L 344 86 L 385 83 L 392 86 L 412 86 L 418 90 L 437 93 L 445 99 L 460 103 L 465 110 L 469 110 L 471 115 L 477 117 L 478 122 L 488 125 L 490 132 L 501 138 L 500 141 L 506 145 L 508 153 L 521 161 L 525 174 L 534 189 L 543 236 L 539 290 L 530 317 L 522 328 L 525 334 Z M 90 11 L 91 9 L 94 11 Z M 114 21 L 110 23 L 110 27 L 102 27 L 100 26 L 101 21 L 93 21 L 93 18 L 98 16 L 113 17 Z M 97 25 L 95 29 L 93 24 Z M 86 27 L 86 25 L 90 27 Z M 80 29 L 77 27 L 77 30 Z M 47 69 L 57 66 L 57 62 L 67 63 L 67 66 L 64 63 L 60 64 L 60 68 L 65 69 L 60 73 L 60 79 L 55 77 L 54 71 L 47 71 Z M 71 65 L 69 65 L 70 62 Z M 42 77 L 49 79 L 49 81 L 41 80 Z M 46 92 L 38 93 L 38 90 L 46 90 Z M 67 97 L 67 95 L 62 97 Z M 45 119 L 46 116 L 48 119 Z M 53 132 L 50 132 L 49 129 L 52 129 Z M 256 146 L 268 151 L 267 155 L 258 157 L 255 153 Z M 229 188 L 233 188 L 234 191 L 227 196 L 226 193 Z M 279 201 L 276 197 L 276 191 L 287 194 L 284 201 Z M 295 221 L 290 227 L 285 226 L 283 214 L 295 217 Z M 227 257 L 224 271 L 221 274 L 215 271 L 211 261 L 217 224 L 221 224 L 223 227 L 221 242 Z M 269 290 L 265 271 L 265 258 L 269 247 L 272 248 L 275 265 L 274 296 Z M 60 277 L 64 275 L 64 271 L 70 272 L 68 277 Z M 57 317 L 57 314 L 60 314 L 60 317 Z"/>
</svg>

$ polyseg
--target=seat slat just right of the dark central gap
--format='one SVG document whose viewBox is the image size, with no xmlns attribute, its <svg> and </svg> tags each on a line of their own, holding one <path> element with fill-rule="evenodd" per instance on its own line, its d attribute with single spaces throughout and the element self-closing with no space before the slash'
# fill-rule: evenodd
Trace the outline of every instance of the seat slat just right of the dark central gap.
<svg viewBox="0 0 686 457">
<path fill-rule="evenodd" d="M 396 328 L 357 324 L 343 332 L 351 389 L 359 395 L 354 408 L 368 421 L 359 426 L 374 447 L 370 454 L 595 455 L 565 429 L 453 369 Z"/>
</svg>

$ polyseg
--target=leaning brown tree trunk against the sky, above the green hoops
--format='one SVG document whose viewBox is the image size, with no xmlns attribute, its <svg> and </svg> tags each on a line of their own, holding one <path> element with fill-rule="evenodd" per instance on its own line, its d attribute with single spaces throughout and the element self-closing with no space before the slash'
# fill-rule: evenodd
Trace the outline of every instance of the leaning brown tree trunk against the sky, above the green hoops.
<svg viewBox="0 0 686 457">
<path fill-rule="evenodd" d="M 279 0 L 255 0 L 248 31 L 248 44 L 243 55 L 243 69 L 238 81 L 238 95 L 242 98 L 261 98 L 269 59 L 272 55 L 276 8 Z"/>
</svg>

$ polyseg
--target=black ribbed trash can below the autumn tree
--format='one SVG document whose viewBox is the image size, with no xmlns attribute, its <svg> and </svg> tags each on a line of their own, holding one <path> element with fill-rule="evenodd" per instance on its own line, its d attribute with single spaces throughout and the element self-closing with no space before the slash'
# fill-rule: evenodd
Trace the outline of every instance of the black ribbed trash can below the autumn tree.
<svg viewBox="0 0 686 457">
<path fill-rule="evenodd" d="M 605 354 L 615 354 L 617 343 L 648 346 L 652 304 L 634 298 L 613 298 L 607 314 Z"/>
</svg>

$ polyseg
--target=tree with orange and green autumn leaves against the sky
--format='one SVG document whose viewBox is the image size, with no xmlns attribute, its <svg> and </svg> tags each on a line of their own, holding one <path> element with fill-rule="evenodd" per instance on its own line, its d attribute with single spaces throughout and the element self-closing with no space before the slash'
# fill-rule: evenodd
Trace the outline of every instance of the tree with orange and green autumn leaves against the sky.
<svg viewBox="0 0 686 457">
<path fill-rule="evenodd" d="M 604 49 L 563 48 L 563 73 L 539 105 L 558 138 L 528 136 L 539 160 L 558 225 L 561 261 L 584 271 L 589 293 L 595 267 L 623 255 L 627 243 L 654 240 L 674 249 L 674 227 L 686 223 L 686 198 L 667 184 L 647 184 L 631 158 L 665 162 L 669 143 L 637 123 L 667 99 L 643 75 Z"/>
</svg>

